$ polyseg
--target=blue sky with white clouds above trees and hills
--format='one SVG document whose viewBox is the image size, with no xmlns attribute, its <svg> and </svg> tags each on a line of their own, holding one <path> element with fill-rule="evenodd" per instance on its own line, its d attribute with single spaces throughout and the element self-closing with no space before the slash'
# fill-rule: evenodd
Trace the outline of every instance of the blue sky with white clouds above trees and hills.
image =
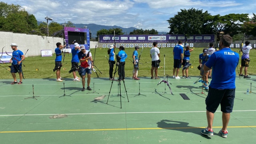
<svg viewBox="0 0 256 144">
<path fill-rule="evenodd" d="M 45 16 L 55 22 L 71 21 L 74 24 L 100 24 L 106 26 L 154 28 L 169 32 L 166 20 L 180 9 L 207 10 L 211 15 L 256 13 L 255 0 L 2 0 L 18 4 L 38 21 Z"/>
</svg>

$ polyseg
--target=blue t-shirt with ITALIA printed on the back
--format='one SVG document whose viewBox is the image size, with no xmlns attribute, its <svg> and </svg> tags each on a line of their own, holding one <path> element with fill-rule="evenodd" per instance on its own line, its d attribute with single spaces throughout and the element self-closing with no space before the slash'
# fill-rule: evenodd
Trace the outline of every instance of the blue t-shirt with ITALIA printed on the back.
<svg viewBox="0 0 256 144">
<path fill-rule="evenodd" d="M 230 48 L 222 48 L 222 50 L 214 52 L 205 64 L 208 68 L 212 68 L 212 80 L 209 86 L 216 89 L 236 88 L 238 62 L 239 54 Z"/>
</svg>

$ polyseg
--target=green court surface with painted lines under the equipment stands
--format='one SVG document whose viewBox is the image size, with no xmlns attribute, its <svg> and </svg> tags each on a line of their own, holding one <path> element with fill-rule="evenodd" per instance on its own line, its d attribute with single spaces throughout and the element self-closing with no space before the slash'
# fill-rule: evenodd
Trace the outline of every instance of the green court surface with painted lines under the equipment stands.
<svg viewBox="0 0 256 144">
<path fill-rule="evenodd" d="M 220 108 L 215 113 L 214 136 L 201 134 L 201 130 L 207 126 L 205 98 L 208 91 L 199 88 L 202 83 L 194 84 L 199 77 L 178 80 L 168 78 L 174 95 L 170 94 L 164 82 L 158 85 L 161 79 L 140 78 L 126 78 L 125 83 L 121 82 L 122 108 L 118 83 L 114 81 L 110 91 L 112 81 L 108 78 L 92 78 L 92 91 L 84 92 L 81 91 L 82 82 L 73 82 L 71 78 L 66 78 L 63 82 L 56 82 L 54 79 L 25 79 L 23 84 L 14 85 L 10 84 L 11 79 L 0 80 L 0 143 L 255 142 L 256 76 L 250 79 L 236 78 L 236 99 L 228 125 L 228 138 L 222 138 L 219 134 L 222 127 Z M 37 100 L 28 98 L 33 96 L 32 85 L 34 96 L 39 96 L 36 97 Z M 251 85 L 252 93 L 246 94 Z M 62 96 L 64 86 L 65 94 L 70 96 Z M 181 93 L 186 94 L 190 100 L 184 100 Z M 106 96 L 104 99 L 94 100 L 103 95 Z"/>
</svg>

